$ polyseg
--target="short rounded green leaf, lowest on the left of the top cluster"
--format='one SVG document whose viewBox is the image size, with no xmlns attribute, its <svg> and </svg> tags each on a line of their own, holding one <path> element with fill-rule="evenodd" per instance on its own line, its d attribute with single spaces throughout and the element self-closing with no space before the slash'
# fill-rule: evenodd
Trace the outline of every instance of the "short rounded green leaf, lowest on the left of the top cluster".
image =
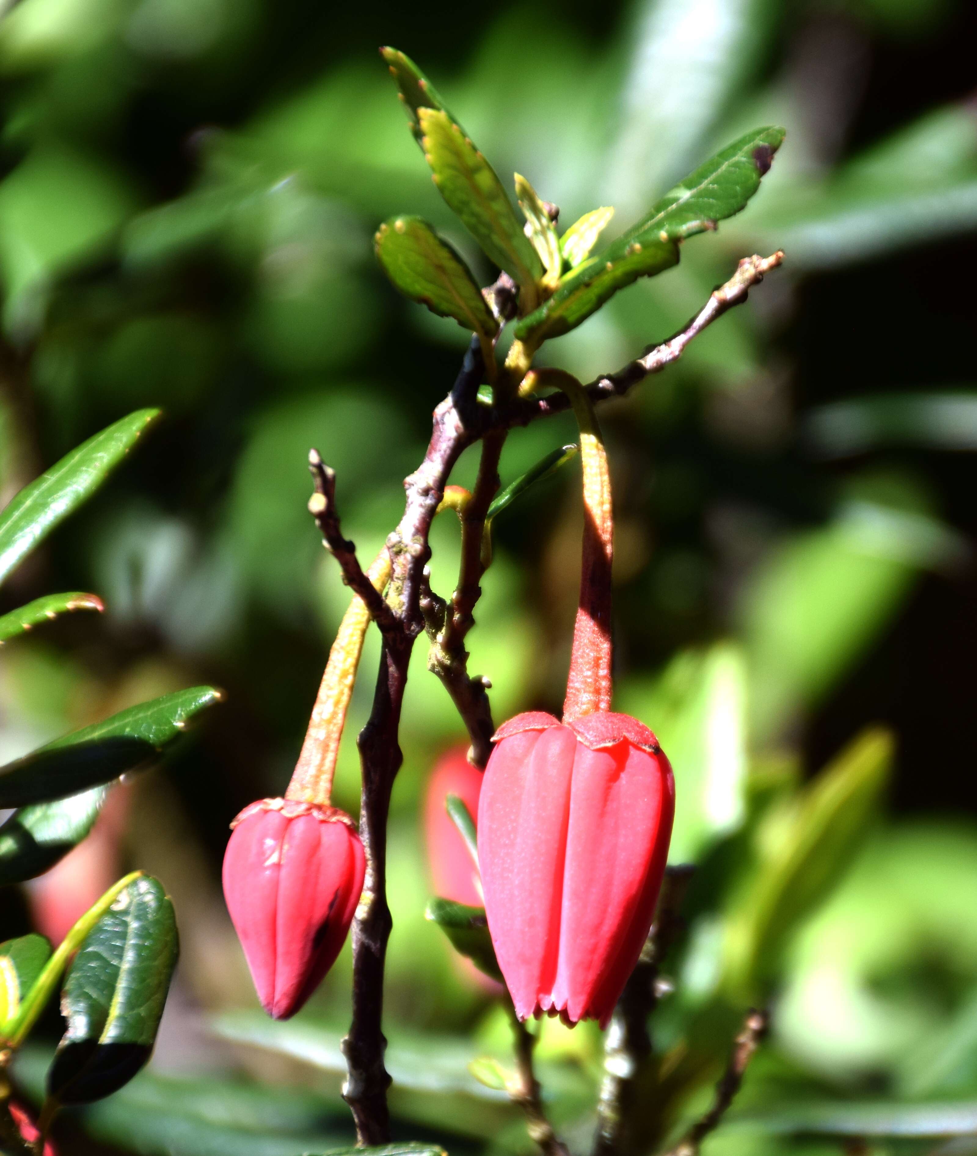
<svg viewBox="0 0 977 1156">
<path fill-rule="evenodd" d="M 384 272 L 402 294 L 491 341 L 498 325 L 468 266 L 425 221 L 394 217 L 380 225 L 373 244 Z"/>
</svg>

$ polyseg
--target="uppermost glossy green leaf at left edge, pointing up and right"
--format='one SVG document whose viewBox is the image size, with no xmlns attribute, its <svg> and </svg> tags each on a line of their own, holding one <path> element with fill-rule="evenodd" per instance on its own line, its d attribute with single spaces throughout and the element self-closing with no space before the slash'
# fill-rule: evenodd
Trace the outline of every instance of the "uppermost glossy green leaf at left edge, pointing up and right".
<svg viewBox="0 0 977 1156">
<path fill-rule="evenodd" d="M 91 497 L 158 416 L 158 409 L 138 409 L 123 417 L 82 442 L 14 496 L 0 513 L 0 581 Z"/>
</svg>

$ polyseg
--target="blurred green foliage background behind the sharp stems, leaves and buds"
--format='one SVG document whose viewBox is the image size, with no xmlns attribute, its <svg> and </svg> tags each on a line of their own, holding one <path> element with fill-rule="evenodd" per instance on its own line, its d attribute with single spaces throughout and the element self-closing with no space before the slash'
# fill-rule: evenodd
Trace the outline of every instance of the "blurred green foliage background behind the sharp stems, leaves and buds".
<svg viewBox="0 0 977 1156">
<path fill-rule="evenodd" d="M 764 979 L 774 1046 L 716 1150 L 835 1150 L 797 1139 L 824 1131 L 799 1116 L 778 1132 L 785 1101 L 960 1109 L 977 1097 L 974 6 L 20 0 L 0 20 L 0 496 L 132 409 L 168 418 L 5 590 L 2 609 L 52 588 L 92 590 L 108 609 L 3 647 L 0 749 L 13 758 L 191 683 L 228 694 L 162 772 L 117 792 L 126 817 L 105 839 L 112 869 L 151 870 L 177 904 L 183 958 L 155 1060 L 176 1075 L 141 1077 L 72 1142 L 286 1154 L 348 1134 L 335 1095 L 348 949 L 283 1033 L 265 1038 L 250 1013 L 221 1020 L 221 1038 L 209 1025 L 256 1006 L 220 895 L 228 823 L 283 791 L 346 605 L 305 511 L 308 449 L 336 469 L 345 529 L 372 557 L 466 343 L 385 283 L 372 232 L 422 214 L 493 276 L 406 131 L 376 54 L 386 43 L 432 77 L 503 179 L 525 173 L 564 224 L 609 203 L 620 231 L 743 129 L 787 127 L 743 214 L 546 350 L 583 379 L 617 369 L 739 257 L 786 251 L 747 306 L 604 412 L 617 704 L 669 751 L 672 858 L 702 865 L 661 1046 L 694 1035 L 696 1007 L 725 983 L 768 828 L 784 827 L 774 812 L 880 724 L 895 739 L 885 791 L 868 792 L 843 846 L 819 852 L 837 869 L 784 920 Z M 503 482 L 572 439 L 569 418 L 517 431 Z M 473 469 L 467 454 L 453 480 Z M 469 636 L 496 720 L 562 699 L 577 470 L 496 526 Z M 457 536 L 438 520 L 442 593 Z M 336 785 L 354 813 L 376 657 L 371 635 Z M 390 833 L 398 1126 L 452 1150 L 518 1149 L 504 1096 L 465 1073 L 472 1048 L 504 1043 L 501 1011 L 423 920 L 420 801 L 437 755 L 464 740 L 424 662 L 422 642 Z M 5 936 L 43 917 L 42 898 L 3 896 Z M 598 1043 L 545 1032 L 554 1114 L 571 1131 L 590 1118 Z M 441 1084 L 438 1064 L 454 1073 Z M 228 1084 L 207 1099 L 197 1080 L 172 1083 L 201 1067 L 293 1090 Z M 417 1070 L 430 1087 L 414 1087 Z M 693 1097 L 710 1070 L 690 1077 Z M 446 1101 L 431 1095 L 443 1087 Z M 145 1121 L 173 1103 L 165 1147 Z M 762 1136 L 750 1106 L 774 1112 Z M 948 1125 L 919 1127 L 901 1143 L 928 1151 Z"/>
</svg>

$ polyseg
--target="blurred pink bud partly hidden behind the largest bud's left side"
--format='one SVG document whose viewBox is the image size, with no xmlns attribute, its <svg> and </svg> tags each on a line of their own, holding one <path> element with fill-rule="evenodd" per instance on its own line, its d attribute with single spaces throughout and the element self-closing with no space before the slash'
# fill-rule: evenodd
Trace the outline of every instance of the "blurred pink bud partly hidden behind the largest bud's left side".
<svg viewBox="0 0 977 1156">
<path fill-rule="evenodd" d="M 450 794 L 457 794 L 478 820 L 482 778 L 482 772 L 468 762 L 465 748 L 454 747 L 435 764 L 424 796 L 424 837 L 434 894 L 469 907 L 482 905 L 479 872 L 445 803 Z"/>
</svg>

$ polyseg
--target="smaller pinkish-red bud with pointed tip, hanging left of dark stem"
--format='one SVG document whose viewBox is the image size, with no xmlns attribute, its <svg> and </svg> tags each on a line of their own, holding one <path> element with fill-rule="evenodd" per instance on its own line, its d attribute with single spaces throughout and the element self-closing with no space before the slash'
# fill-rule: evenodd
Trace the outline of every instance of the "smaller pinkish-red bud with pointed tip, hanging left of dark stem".
<svg viewBox="0 0 977 1156">
<path fill-rule="evenodd" d="M 231 824 L 224 899 L 261 1006 L 302 1007 L 335 962 L 360 902 L 363 844 L 335 807 L 261 799 Z"/>
</svg>

